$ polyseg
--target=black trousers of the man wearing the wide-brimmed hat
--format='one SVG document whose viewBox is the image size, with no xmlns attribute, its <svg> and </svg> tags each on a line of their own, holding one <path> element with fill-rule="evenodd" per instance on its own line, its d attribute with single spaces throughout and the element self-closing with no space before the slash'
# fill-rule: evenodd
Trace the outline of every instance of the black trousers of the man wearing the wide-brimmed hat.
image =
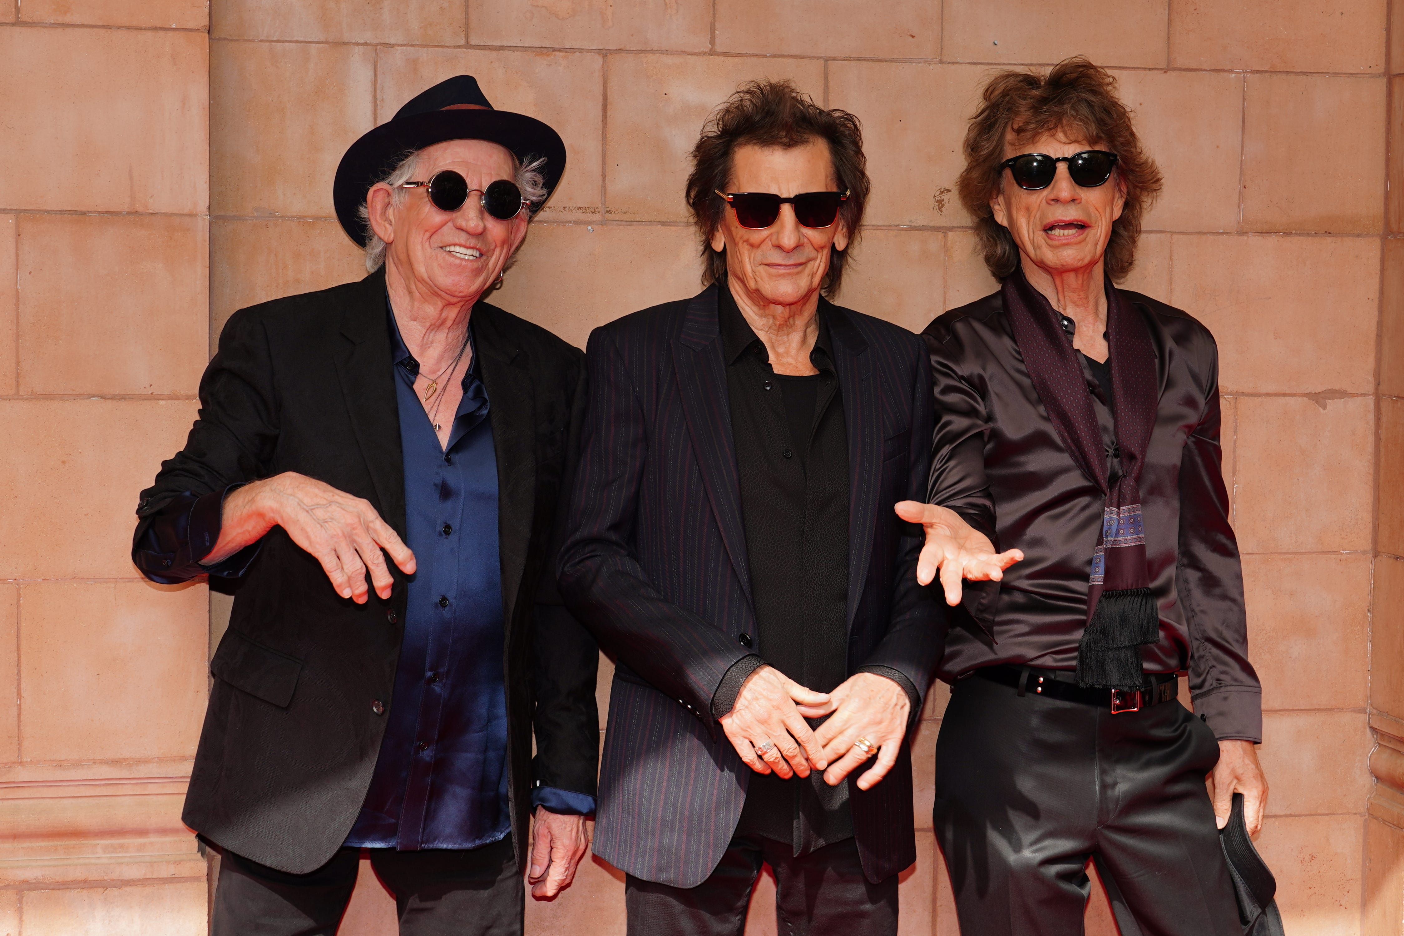
<svg viewBox="0 0 1404 936">
<path fill-rule="evenodd" d="M 511 836 L 476 849 L 369 849 L 395 895 L 400 936 L 521 936 L 525 888 Z M 333 936 L 351 901 L 361 849 L 307 874 L 220 852 L 211 936 Z"/>
</svg>

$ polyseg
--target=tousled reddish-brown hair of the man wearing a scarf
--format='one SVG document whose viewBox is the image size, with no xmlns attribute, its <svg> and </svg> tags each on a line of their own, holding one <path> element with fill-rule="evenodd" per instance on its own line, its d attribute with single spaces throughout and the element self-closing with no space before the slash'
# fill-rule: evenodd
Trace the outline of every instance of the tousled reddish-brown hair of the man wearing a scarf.
<svg viewBox="0 0 1404 936">
<path fill-rule="evenodd" d="M 1141 149 L 1132 112 L 1116 97 L 1116 79 L 1082 56 L 1063 59 L 1046 76 L 1000 72 L 984 86 L 980 109 L 966 131 L 966 167 L 956 182 L 960 203 L 974 216 L 984 264 L 1004 279 L 1019 262 L 1014 237 L 990 209 L 990 196 L 1001 185 L 1005 138 L 1022 143 L 1043 133 L 1116 153 L 1115 178 L 1126 191 L 1126 206 L 1112 223 L 1104 269 L 1112 282 L 1120 282 L 1136 262 L 1141 218 L 1160 194 L 1161 177 Z"/>
</svg>

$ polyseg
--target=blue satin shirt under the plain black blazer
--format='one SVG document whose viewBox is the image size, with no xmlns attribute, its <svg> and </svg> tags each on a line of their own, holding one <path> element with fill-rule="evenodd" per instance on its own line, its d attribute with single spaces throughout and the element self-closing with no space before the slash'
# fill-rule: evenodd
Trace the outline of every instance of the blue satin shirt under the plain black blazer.
<svg viewBox="0 0 1404 936">
<path fill-rule="evenodd" d="M 389 309 L 389 303 L 386 303 Z M 511 829 L 497 543 L 497 457 L 477 355 L 448 445 L 414 390 L 420 365 L 389 313 L 404 457 L 404 641 L 375 775 L 347 846 L 468 849 Z M 472 340 L 472 328 L 469 331 Z M 594 797 L 538 787 L 534 805 L 594 813 Z"/>
</svg>

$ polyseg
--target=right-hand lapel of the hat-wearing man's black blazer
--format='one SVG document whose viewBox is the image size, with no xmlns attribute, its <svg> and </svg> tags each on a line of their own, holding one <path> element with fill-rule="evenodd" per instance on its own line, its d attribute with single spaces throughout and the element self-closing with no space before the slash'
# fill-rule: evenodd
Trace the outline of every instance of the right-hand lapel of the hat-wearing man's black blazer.
<svg viewBox="0 0 1404 936">
<path fill-rule="evenodd" d="M 487 422 L 497 455 L 497 542 L 503 620 L 517 609 L 536 508 L 536 390 L 525 352 L 500 327 L 497 310 L 473 310 L 473 342 L 487 390 Z"/>
</svg>

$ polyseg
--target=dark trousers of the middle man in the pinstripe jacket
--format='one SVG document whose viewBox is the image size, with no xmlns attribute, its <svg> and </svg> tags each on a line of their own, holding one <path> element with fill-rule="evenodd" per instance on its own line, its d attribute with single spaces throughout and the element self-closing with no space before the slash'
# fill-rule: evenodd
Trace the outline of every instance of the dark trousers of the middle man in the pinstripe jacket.
<svg viewBox="0 0 1404 936">
<path fill-rule="evenodd" d="M 739 835 L 696 887 L 625 878 L 628 936 L 741 936 L 751 888 L 775 869 L 775 922 L 782 936 L 896 936 L 897 876 L 863 877 L 854 839 L 800 857 L 788 842 Z"/>
</svg>

